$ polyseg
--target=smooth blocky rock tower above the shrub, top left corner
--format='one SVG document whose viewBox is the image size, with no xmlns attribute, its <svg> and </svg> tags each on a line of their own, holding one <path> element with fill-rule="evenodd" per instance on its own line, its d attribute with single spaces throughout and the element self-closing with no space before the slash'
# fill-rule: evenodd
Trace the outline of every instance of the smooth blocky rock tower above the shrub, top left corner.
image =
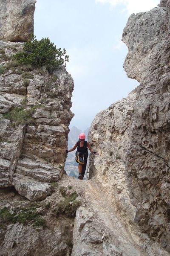
<svg viewBox="0 0 170 256">
<path fill-rule="evenodd" d="M 36 0 L 0 2 L 0 40 L 26 42 L 34 34 Z"/>
</svg>

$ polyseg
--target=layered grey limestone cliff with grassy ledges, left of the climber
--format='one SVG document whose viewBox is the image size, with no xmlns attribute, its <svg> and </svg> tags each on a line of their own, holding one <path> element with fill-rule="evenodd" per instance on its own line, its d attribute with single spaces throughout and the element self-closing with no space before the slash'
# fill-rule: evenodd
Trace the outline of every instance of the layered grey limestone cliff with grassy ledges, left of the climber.
<svg viewBox="0 0 170 256">
<path fill-rule="evenodd" d="M 74 82 L 65 68 L 49 75 L 45 67 L 10 67 L 22 45 L 0 41 L 0 47 L 0 187 L 43 200 L 64 170 Z"/>
</svg>

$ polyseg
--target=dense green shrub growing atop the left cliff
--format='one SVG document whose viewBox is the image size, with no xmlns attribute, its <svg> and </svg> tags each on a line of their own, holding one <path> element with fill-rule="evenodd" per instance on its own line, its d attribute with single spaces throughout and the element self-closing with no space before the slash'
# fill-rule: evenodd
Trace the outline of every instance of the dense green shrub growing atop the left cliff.
<svg viewBox="0 0 170 256">
<path fill-rule="evenodd" d="M 52 74 L 55 69 L 65 66 L 65 63 L 68 62 L 68 55 L 65 53 L 65 49 L 63 51 L 61 48 L 57 49 L 48 38 L 38 41 L 32 35 L 32 38 L 24 44 L 23 52 L 16 53 L 13 59 L 35 67 L 45 65 L 48 72 Z"/>
</svg>

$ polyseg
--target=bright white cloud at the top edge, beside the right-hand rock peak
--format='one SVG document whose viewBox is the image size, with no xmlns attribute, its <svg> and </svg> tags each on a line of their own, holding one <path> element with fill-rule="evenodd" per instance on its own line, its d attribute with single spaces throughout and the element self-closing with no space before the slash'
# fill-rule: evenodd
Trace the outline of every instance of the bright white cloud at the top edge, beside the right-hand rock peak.
<svg viewBox="0 0 170 256">
<path fill-rule="evenodd" d="M 113 8 L 117 5 L 124 5 L 128 15 L 132 13 L 147 12 L 156 7 L 160 0 L 95 0 L 96 3 L 109 3 Z"/>
</svg>

